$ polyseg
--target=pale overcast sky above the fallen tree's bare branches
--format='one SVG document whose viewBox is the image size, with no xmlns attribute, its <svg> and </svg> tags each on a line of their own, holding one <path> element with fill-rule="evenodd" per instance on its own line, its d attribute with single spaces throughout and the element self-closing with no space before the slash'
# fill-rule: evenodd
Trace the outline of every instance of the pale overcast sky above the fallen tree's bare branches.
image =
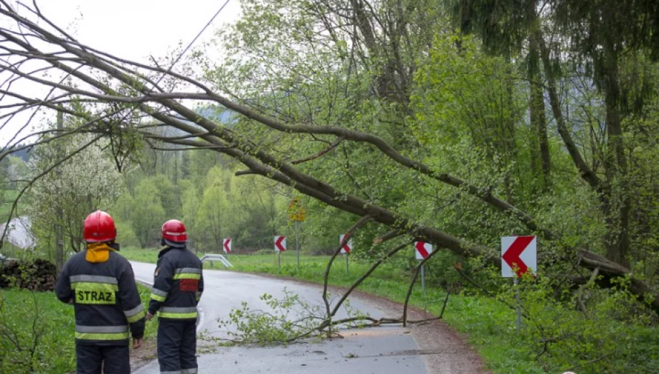
<svg viewBox="0 0 659 374">
<path fill-rule="evenodd" d="M 225 0 L 41 0 L 46 17 L 70 31 L 80 42 L 129 60 L 148 62 L 162 57 L 180 42 L 187 45 Z M 31 4 L 31 1 L 26 1 Z M 239 0 L 230 0 L 195 45 L 214 30 L 239 17 Z M 0 147 L 16 131 L 19 121 L 0 133 Z M 12 131 L 13 130 L 13 131 Z"/>
</svg>

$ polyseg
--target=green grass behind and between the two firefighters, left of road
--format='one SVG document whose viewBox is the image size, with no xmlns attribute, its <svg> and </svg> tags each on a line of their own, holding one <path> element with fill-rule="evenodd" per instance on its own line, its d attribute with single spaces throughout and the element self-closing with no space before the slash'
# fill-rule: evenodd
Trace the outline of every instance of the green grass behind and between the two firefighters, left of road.
<svg viewBox="0 0 659 374">
<path fill-rule="evenodd" d="M 146 305 L 151 291 L 138 287 Z M 0 373 L 75 371 L 75 326 L 74 308 L 53 292 L 0 290 Z M 155 337 L 156 330 L 157 321 L 146 323 L 145 338 Z"/>
</svg>

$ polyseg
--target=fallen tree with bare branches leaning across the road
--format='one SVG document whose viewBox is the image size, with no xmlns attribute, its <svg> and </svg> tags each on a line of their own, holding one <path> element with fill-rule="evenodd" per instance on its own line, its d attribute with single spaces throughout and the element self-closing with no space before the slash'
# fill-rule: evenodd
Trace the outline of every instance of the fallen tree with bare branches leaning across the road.
<svg viewBox="0 0 659 374">
<path fill-rule="evenodd" d="M 298 166 L 306 159 L 316 159 L 324 157 L 323 154 L 331 154 L 332 148 L 336 146 L 330 145 L 327 152 L 320 152 L 317 157 L 305 157 L 295 163 L 275 152 L 269 152 L 263 142 L 255 141 L 250 134 L 232 130 L 183 104 L 185 100 L 196 100 L 223 105 L 247 118 L 249 125 L 262 126 L 273 134 L 300 134 L 309 138 L 322 135 L 334 137 L 335 143 L 366 143 L 371 146 L 373 152 L 379 152 L 391 163 L 418 174 L 427 181 L 426 183 L 453 186 L 459 193 L 472 195 L 490 208 L 515 218 L 527 228 L 529 233 L 537 233 L 542 238 L 559 244 L 561 242 L 558 233 L 538 226 L 531 215 L 506 202 L 505 199 L 493 195 L 491 190 L 434 170 L 425 163 L 398 152 L 375 134 L 332 125 L 286 123 L 245 104 L 230 100 L 201 80 L 176 73 L 171 67 L 166 69 L 158 64 L 148 66 L 131 62 L 81 44 L 49 21 L 36 5 L 29 8 L 21 4 L 20 6 L 26 7 L 29 12 L 28 16 L 24 16 L 7 1 L 0 1 L 0 4 L 1 17 L 19 25 L 18 30 L 6 26 L 0 27 L 2 38 L 0 49 L 3 55 L 11 60 L 0 62 L 0 67 L 10 74 L 10 78 L 0 88 L 0 94 L 12 100 L 12 103 L 3 105 L 6 113 L 1 117 L 6 121 L 5 124 L 18 114 L 32 112 L 35 109 L 50 109 L 80 119 L 80 125 L 74 128 L 44 130 L 38 134 L 40 138 L 37 141 L 28 145 L 20 145 L 23 139 L 19 139 L 17 135 L 12 139 L 15 143 L 0 154 L 0 159 L 17 150 L 31 148 L 79 132 L 97 134 L 98 137 L 92 141 L 101 136 L 109 139 L 114 155 L 118 158 L 128 157 L 130 152 L 135 150 L 137 145 L 130 140 L 134 141 L 136 136 L 144 139 L 147 144 L 163 142 L 180 145 L 185 147 L 184 149 L 213 150 L 226 154 L 246 166 L 247 170 L 241 174 L 261 175 L 290 186 L 329 206 L 361 217 L 359 222 L 365 220 L 376 222 L 395 230 L 397 235 L 409 235 L 411 238 L 431 242 L 436 247 L 447 249 L 458 256 L 482 258 L 493 267 L 501 267 L 498 249 L 472 244 L 429 224 L 416 222 L 413 217 L 406 217 L 394 208 L 344 193 L 329 181 L 314 177 Z M 31 70 L 29 66 L 35 63 L 40 67 Z M 42 71 L 58 78 L 42 78 L 37 74 Z M 28 96 L 17 89 L 12 89 L 12 83 L 16 80 L 28 80 L 40 84 L 50 92 L 46 98 Z M 166 81 L 166 87 L 187 89 L 168 90 L 165 84 L 161 83 L 163 80 Z M 194 91 L 191 92 L 189 89 Z M 151 131 L 153 122 L 142 121 L 144 118 L 151 118 L 160 126 L 174 127 L 183 135 L 155 134 Z M 24 128 L 28 124 L 24 125 Z M 67 157 L 53 160 L 53 168 Z M 32 183 L 33 181 L 25 184 L 19 197 Z M 14 212 L 15 206 L 12 208 L 12 214 Z M 642 279 L 637 278 L 630 269 L 584 247 L 568 246 L 565 256 L 558 258 L 558 261 L 588 270 L 598 269 L 599 276 L 604 279 L 630 278 L 630 292 L 659 312 L 658 292 Z M 377 265 L 379 263 L 374 266 Z M 329 307 L 327 314 L 328 318 L 333 315 Z"/>
</svg>

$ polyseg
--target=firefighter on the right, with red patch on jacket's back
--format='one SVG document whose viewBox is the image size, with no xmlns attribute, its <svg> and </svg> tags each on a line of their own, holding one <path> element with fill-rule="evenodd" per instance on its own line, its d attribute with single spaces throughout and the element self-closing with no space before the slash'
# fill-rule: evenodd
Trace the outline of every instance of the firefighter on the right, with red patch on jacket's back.
<svg viewBox="0 0 659 374">
<path fill-rule="evenodd" d="M 157 313 L 160 373 L 197 373 L 197 304 L 204 290 L 202 264 L 186 248 L 187 233 L 179 220 L 162 225 L 162 245 L 153 274 L 146 319 Z"/>
</svg>

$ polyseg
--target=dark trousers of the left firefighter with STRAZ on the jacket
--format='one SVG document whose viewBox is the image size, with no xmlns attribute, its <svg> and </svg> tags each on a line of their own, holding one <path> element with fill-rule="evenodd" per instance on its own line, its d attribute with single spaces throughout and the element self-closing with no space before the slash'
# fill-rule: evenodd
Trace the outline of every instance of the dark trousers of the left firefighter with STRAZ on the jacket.
<svg viewBox="0 0 659 374">
<path fill-rule="evenodd" d="M 93 346 L 76 344 L 78 374 L 130 373 L 128 346 Z"/>
</svg>

